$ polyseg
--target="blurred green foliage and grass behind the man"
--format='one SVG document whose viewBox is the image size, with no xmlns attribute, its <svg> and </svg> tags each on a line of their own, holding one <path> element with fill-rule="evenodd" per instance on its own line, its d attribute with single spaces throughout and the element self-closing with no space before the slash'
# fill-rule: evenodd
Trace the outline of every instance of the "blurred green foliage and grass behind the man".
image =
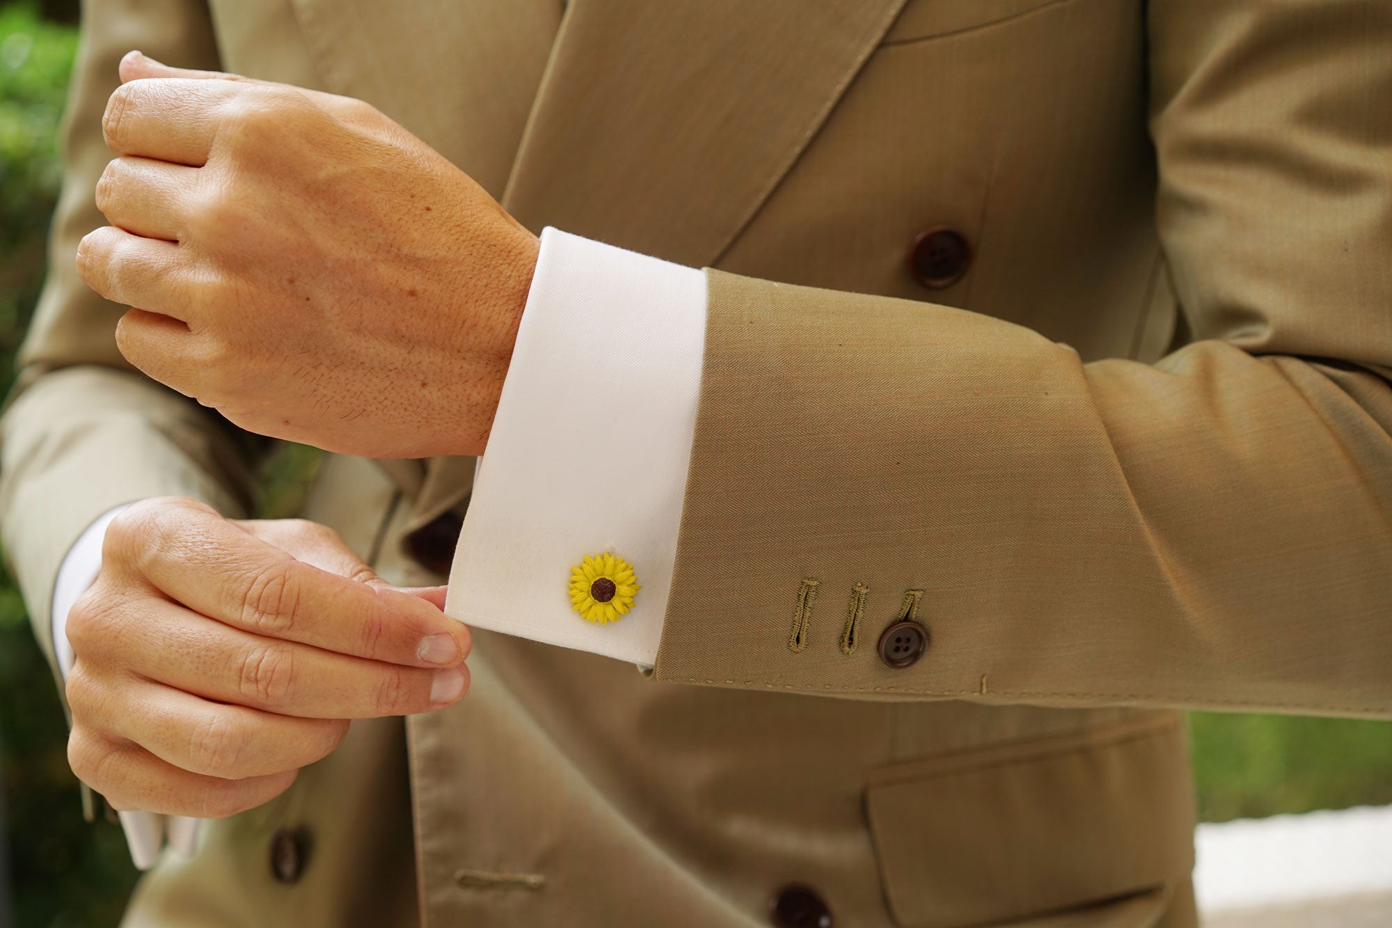
<svg viewBox="0 0 1392 928">
<path fill-rule="evenodd" d="M 0 0 L 0 389 L 43 276 L 58 187 L 56 131 L 75 0 Z M 273 458 L 262 514 L 292 510 L 315 463 Z M 1392 672 L 1392 670 L 1389 670 Z M 1392 725 L 1260 715 L 1190 716 L 1205 821 L 1392 803 Z M 15 925 L 114 925 L 136 874 L 118 826 L 88 825 L 64 757 L 65 725 L 24 603 L 0 574 L 0 755 Z M 0 899 L 0 906 L 4 900 Z M 0 925 L 6 913 L 0 911 Z"/>
</svg>

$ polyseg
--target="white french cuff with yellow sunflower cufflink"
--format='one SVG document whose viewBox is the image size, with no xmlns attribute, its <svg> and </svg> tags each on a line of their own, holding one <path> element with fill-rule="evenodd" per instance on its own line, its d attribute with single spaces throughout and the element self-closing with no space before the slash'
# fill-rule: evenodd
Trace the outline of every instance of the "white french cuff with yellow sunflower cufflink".
<svg viewBox="0 0 1392 928">
<path fill-rule="evenodd" d="M 653 665 L 704 340 L 700 270 L 541 233 L 448 614 Z"/>
</svg>

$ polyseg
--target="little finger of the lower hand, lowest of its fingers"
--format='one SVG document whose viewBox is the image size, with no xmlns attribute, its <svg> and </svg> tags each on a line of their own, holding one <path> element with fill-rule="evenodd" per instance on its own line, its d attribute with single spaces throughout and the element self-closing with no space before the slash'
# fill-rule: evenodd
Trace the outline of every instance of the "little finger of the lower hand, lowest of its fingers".
<svg viewBox="0 0 1392 928">
<path fill-rule="evenodd" d="M 78 779 L 99 791 L 111 808 L 160 815 L 227 818 L 276 798 L 298 771 L 224 780 L 191 773 L 145 748 L 78 726 L 68 736 L 68 764 Z"/>
</svg>

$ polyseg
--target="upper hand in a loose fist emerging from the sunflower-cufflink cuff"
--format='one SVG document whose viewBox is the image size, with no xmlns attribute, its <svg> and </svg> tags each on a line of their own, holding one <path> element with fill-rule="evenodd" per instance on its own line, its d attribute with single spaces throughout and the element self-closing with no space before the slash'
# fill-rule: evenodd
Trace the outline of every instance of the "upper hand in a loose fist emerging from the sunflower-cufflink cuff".
<svg viewBox="0 0 1392 928">
<path fill-rule="evenodd" d="M 359 100 L 139 53 L 104 116 L 111 223 L 78 272 L 143 372 L 252 432 L 479 454 L 539 242 Z"/>
</svg>

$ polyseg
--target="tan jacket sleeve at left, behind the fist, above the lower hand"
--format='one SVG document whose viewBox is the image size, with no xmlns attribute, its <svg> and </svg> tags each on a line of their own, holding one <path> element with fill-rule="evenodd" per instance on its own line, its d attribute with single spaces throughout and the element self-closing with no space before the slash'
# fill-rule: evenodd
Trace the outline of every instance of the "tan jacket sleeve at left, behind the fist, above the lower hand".
<svg viewBox="0 0 1392 928">
<path fill-rule="evenodd" d="M 245 438 L 134 371 L 114 337 L 125 307 L 97 297 L 74 270 L 78 241 L 106 224 L 93 202 L 96 181 L 111 159 L 102 113 L 120 82 L 117 64 L 131 49 L 182 67 L 217 67 L 207 10 L 198 0 L 84 6 L 49 276 L 0 419 L 4 550 L 50 662 L 49 612 L 58 566 L 97 516 L 163 495 L 195 496 L 238 514 L 248 490 Z"/>
</svg>

